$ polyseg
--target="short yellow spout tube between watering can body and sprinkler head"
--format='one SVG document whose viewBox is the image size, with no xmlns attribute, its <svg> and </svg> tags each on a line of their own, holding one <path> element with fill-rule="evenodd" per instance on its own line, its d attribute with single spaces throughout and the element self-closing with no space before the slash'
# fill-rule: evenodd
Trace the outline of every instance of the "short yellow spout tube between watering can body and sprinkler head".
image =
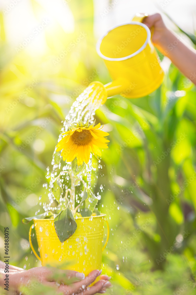
<svg viewBox="0 0 196 295">
<path fill-rule="evenodd" d="M 130 86 L 130 82 L 123 78 L 118 78 L 108 84 L 105 84 L 104 87 L 107 91 L 107 97 L 121 94 L 126 91 Z"/>
</svg>

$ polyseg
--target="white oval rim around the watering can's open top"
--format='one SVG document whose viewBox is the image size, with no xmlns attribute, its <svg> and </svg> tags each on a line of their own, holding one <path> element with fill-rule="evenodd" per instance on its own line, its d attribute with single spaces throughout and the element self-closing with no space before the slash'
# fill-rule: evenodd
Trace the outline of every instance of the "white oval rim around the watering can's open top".
<svg viewBox="0 0 196 295">
<path fill-rule="evenodd" d="M 101 42 L 103 40 L 103 38 L 105 36 L 108 35 L 109 32 L 111 32 L 112 30 L 114 30 L 115 28 L 118 28 L 118 27 L 122 27 L 122 26 L 125 26 L 127 24 L 138 24 L 139 26 L 141 27 L 144 27 L 146 32 L 147 32 L 147 38 L 144 42 L 144 44 L 137 50 L 135 51 L 134 53 L 130 54 L 130 55 L 127 55 L 125 57 L 121 57 L 121 58 L 110 58 L 110 57 L 107 57 L 105 55 L 103 55 L 100 51 L 100 45 L 101 45 Z M 126 59 L 129 59 L 129 58 L 132 58 L 133 56 L 137 55 L 138 53 L 140 53 L 145 47 L 146 45 L 148 44 L 148 41 L 150 40 L 150 37 L 151 37 L 151 32 L 150 32 L 150 29 L 145 25 L 143 24 L 142 22 L 128 22 L 128 23 L 124 23 L 124 24 L 121 24 L 121 25 L 118 25 L 118 26 L 115 26 L 115 27 L 112 27 L 110 30 L 108 30 L 102 37 L 100 37 L 97 41 L 97 44 L 96 44 L 96 51 L 98 53 L 98 55 L 105 59 L 105 60 L 110 60 L 110 61 L 121 61 L 121 60 L 126 60 Z"/>
</svg>

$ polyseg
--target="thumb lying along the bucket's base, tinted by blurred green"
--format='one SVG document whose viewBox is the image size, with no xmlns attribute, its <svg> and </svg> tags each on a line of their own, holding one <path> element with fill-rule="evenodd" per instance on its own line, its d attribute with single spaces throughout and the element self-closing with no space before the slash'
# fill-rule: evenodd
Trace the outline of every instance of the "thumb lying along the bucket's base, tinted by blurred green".
<svg viewBox="0 0 196 295">
<path fill-rule="evenodd" d="M 67 285 L 81 281 L 85 278 L 84 273 L 70 270 L 61 270 L 58 268 L 46 268 L 45 272 L 48 281 L 61 281 Z"/>
</svg>

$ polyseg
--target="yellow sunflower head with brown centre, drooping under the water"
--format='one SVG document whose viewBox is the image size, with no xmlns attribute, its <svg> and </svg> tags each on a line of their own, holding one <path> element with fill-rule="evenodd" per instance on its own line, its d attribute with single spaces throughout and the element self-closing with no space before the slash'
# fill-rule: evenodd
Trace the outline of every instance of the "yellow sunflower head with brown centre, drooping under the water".
<svg viewBox="0 0 196 295">
<path fill-rule="evenodd" d="M 82 121 L 76 126 L 71 124 L 71 129 L 62 135 L 66 134 L 57 144 L 57 151 L 62 150 L 61 156 L 63 160 L 72 162 L 77 158 L 78 166 L 83 162 L 86 164 L 89 161 L 91 152 L 94 155 L 101 156 L 100 148 L 108 148 L 109 142 L 105 136 L 109 133 L 104 132 L 100 128 L 100 123 L 94 126 L 94 123 L 88 125 Z"/>
</svg>

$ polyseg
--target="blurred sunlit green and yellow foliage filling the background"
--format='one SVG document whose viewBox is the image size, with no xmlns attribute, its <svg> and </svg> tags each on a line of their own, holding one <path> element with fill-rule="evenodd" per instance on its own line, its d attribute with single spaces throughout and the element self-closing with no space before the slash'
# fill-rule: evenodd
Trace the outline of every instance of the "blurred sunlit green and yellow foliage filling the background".
<svg viewBox="0 0 196 295">
<path fill-rule="evenodd" d="M 11 263 L 26 269 L 40 263 L 28 247 L 30 225 L 21 220 L 41 208 L 41 194 L 47 201 L 42 185 L 61 121 L 86 78 L 111 81 L 95 49 L 93 2 L 74 0 L 69 7 L 75 31 L 66 34 L 59 24 L 55 32 L 46 30 L 41 57 L 9 47 L 0 15 L 0 259 L 9 227 Z M 38 15 L 43 7 L 32 1 L 32 10 Z M 86 36 L 55 64 L 81 32 Z M 94 191 L 103 184 L 99 210 L 111 229 L 103 253 L 104 272 L 112 274 L 108 294 L 195 294 L 195 94 L 191 81 L 170 65 L 157 91 L 135 100 L 117 95 L 96 112 L 110 130 Z M 38 139 L 45 143 L 41 153 L 33 148 Z"/>
</svg>

